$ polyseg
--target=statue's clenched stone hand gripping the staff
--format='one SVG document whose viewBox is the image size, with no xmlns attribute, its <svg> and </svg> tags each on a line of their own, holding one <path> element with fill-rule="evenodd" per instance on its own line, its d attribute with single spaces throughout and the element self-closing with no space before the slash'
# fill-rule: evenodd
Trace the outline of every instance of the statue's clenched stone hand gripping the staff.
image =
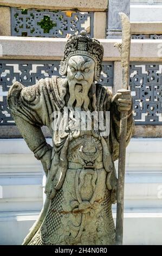
<svg viewBox="0 0 162 256">
<path fill-rule="evenodd" d="M 132 96 L 130 90 L 118 90 L 113 96 L 112 102 L 114 102 L 118 108 L 118 111 L 129 111 L 132 106 Z"/>
</svg>

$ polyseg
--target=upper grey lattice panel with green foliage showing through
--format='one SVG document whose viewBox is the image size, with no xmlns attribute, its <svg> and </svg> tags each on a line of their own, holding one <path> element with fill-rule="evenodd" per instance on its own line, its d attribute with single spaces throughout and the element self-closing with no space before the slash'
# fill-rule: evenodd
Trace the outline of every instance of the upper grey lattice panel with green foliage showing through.
<svg viewBox="0 0 162 256">
<path fill-rule="evenodd" d="M 11 33 L 15 36 L 66 38 L 83 29 L 93 37 L 93 13 L 11 8 Z"/>
</svg>

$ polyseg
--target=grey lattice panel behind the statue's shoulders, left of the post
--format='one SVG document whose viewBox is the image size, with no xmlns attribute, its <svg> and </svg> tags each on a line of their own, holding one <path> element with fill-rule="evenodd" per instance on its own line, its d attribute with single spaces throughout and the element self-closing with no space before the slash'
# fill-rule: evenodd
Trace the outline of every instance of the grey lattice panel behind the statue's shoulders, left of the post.
<svg viewBox="0 0 162 256">
<path fill-rule="evenodd" d="M 11 85 L 20 81 L 32 86 L 41 78 L 59 75 L 60 61 L 51 60 L 0 60 L 0 125 L 13 125 L 7 106 L 7 94 Z M 100 81 L 103 86 L 113 86 L 113 62 L 104 62 Z"/>
</svg>

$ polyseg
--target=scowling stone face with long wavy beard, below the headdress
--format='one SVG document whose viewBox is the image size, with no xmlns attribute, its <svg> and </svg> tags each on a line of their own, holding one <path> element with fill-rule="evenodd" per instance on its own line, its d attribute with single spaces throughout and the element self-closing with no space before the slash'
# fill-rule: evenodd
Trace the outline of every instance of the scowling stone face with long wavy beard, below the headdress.
<svg viewBox="0 0 162 256">
<path fill-rule="evenodd" d="M 69 58 L 67 80 L 70 98 L 68 107 L 88 111 L 88 92 L 94 82 L 95 62 L 87 56 L 76 55 Z M 75 105 L 75 106 L 74 106 Z"/>
</svg>

